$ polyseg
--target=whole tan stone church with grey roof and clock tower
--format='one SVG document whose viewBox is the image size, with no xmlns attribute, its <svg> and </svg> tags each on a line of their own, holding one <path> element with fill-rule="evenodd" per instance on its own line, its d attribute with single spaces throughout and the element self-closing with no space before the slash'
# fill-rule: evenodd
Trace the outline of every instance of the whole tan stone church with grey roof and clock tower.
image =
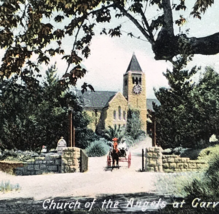
<svg viewBox="0 0 219 214">
<path fill-rule="evenodd" d="M 106 80 L 107 81 L 107 80 Z M 142 121 L 142 130 L 147 132 L 147 109 L 152 110 L 152 102 L 146 99 L 146 77 L 133 54 L 123 75 L 123 94 L 114 91 L 86 91 L 82 94 L 84 110 L 92 118 L 88 128 L 101 133 L 111 127 L 125 127 L 128 109 L 138 109 Z"/>
</svg>

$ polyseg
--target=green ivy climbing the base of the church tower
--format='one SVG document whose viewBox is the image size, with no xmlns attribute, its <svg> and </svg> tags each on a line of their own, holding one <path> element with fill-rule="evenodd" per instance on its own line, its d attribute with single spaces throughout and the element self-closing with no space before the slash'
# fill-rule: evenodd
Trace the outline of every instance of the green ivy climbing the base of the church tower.
<svg viewBox="0 0 219 214">
<path fill-rule="evenodd" d="M 127 114 L 126 135 L 131 136 L 136 140 L 141 135 L 144 135 L 144 131 L 141 129 L 142 121 L 140 119 L 140 112 L 135 109 L 129 109 Z"/>
</svg>

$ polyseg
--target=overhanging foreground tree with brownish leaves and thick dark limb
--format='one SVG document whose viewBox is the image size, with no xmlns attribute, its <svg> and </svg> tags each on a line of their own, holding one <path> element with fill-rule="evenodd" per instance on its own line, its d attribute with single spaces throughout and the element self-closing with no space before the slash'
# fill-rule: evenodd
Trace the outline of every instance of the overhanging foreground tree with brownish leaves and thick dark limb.
<svg viewBox="0 0 219 214">
<path fill-rule="evenodd" d="M 213 3 L 196 0 L 191 15 L 201 19 Z M 68 66 L 62 82 L 76 84 L 86 73 L 80 63 L 90 54 L 95 25 L 110 22 L 114 15 L 131 20 L 151 44 L 157 60 L 171 60 L 182 53 L 211 55 L 219 51 L 218 33 L 203 38 L 175 35 L 174 25 L 182 25 L 185 18 L 180 16 L 174 22 L 173 12 L 187 8 L 184 0 L 172 4 L 170 0 L 2 0 L 0 4 L 0 47 L 5 49 L 1 77 L 16 73 L 25 79 L 27 74 L 39 72 L 39 65 L 48 64 L 55 54 L 65 54 Z M 150 8 L 159 11 L 154 20 L 148 19 Z M 104 28 L 101 33 L 120 36 L 121 25 Z M 128 35 L 135 36 L 134 32 Z M 74 40 L 71 53 L 62 49 L 62 40 L 67 36 Z M 33 55 L 37 60 L 32 60 Z M 87 87 L 93 90 L 89 84 L 84 84 L 82 90 Z"/>
</svg>

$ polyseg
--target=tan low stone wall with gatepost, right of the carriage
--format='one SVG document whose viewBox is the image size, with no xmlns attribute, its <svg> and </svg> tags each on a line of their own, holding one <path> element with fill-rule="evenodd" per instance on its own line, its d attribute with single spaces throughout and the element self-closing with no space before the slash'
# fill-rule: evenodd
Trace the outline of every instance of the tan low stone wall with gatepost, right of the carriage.
<svg viewBox="0 0 219 214">
<path fill-rule="evenodd" d="M 197 171 L 207 167 L 199 160 L 181 158 L 178 155 L 163 155 L 161 147 L 147 148 L 145 152 L 145 171 L 151 172 L 185 172 Z"/>
</svg>

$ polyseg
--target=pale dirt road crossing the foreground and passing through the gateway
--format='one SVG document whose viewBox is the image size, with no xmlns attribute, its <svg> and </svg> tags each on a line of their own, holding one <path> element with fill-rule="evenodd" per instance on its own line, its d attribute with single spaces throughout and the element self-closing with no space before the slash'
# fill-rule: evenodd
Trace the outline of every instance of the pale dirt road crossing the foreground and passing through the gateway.
<svg viewBox="0 0 219 214">
<path fill-rule="evenodd" d="M 126 162 L 120 169 L 105 170 L 106 156 L 89 158 L 86 173 L 46 174 L 36 176 L 12 176 L 0 172 L 0 182 L 18 183 L 20 192 L 0 193 L 0 199 L 34 197 L 35 200 L 50 197 L 89 196 L 100 194 L 124 194 L 153 192 L 155 173 L 139 172 L 142 148 L 149 147 L 151 139 L 139 142 L 129 149 L 132 154 L 131 167 Z"/>
</svg>

